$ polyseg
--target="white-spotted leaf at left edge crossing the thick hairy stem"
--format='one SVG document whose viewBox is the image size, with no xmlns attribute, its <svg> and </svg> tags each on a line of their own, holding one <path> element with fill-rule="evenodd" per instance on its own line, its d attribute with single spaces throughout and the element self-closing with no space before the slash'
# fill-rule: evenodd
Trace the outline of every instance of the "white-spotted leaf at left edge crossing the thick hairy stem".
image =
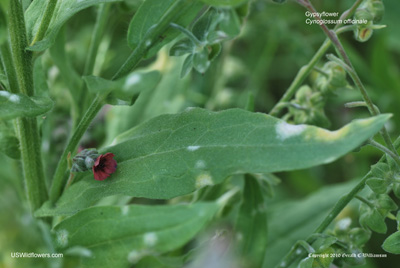
<svg viewBox="0 0 400 268">
<path fill-rule="evenodd" d="M 34 117 L 49 111 L 53 101 L 48 97 L 27 97 L 0 91 L 0 119 L 9 120 L 17 117 Z"/>
</svg>

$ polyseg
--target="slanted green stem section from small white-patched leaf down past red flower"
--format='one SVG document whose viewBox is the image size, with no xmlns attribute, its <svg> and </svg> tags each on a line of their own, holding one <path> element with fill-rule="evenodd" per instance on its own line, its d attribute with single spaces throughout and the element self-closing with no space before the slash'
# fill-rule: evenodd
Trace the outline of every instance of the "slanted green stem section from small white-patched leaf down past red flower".
<svg viewBox="0 0 400 268">
<path fill-rule="evenodd" d="M 63 186 L 65 185 L 64 174 L 67 169 L 67 158 L 68 154 L 71 152 L 72 154 L 75 152 L 79 145 L 79 141 L 81 140 L 83 134 L 85 134 L 87 128 L 89 127 L 92 120 L 97 115 L 98 111 L 101 109 L 103 104 L 104 96 L 97 95 L 93 100 L 92 104 L 86 111 L 82 120 L 79 122 L 78 126 L 75 129 L 74 134 L 70 138 L 67 147 L 65 148 L 61 158 L 58 162 L 56 171 L 54 173 L 53 183 L 50 188 L 50 201 L 57 201 L 58 197 L 61 195 L 61 191 Z"/>
</svg>

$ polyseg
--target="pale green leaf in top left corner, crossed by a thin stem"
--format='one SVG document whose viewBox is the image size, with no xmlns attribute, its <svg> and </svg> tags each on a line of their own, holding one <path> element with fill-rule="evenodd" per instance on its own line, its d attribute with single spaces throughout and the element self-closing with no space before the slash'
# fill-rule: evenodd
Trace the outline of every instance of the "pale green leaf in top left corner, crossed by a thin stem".
<svg viewBox="0 0 400 268">
<path fill-rule="evenodd" d="M 53 17 L 50 21 L 47 32 L 43 40 L 36 42 L 33 46 L 28 47 L 32 51 L 43 51 L 51 47 L 57 37 L 61 27 L 79 11 L 98 5 L 101 3 L 118 2 L 120 0 L 62 0 L 57 1 L 54 9 Z M 25 12 L 25 24 L 28 33 L 28 40 L 32 40 L 33 36 L 39 29 L 42 21 L 43 13 L 46 9 L 48 1 L 33 1 Z"/>
</svg>

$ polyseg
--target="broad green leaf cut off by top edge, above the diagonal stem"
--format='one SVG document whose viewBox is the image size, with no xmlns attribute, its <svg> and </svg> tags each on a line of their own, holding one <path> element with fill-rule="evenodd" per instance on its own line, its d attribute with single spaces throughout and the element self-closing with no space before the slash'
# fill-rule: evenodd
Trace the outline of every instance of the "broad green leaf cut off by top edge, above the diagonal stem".
<svg viewBox="0 0 400 268">
<path fill-rule="evenodd" d="M 155 55 L 161 47 L 178 37 L 180 31 L 171 22 L 187 27 L 204 4 L 198 0 L 146 0 L 133 17 L 128 29 L 128 45 L 149 47 L 146 57 Z"/>
</svg>

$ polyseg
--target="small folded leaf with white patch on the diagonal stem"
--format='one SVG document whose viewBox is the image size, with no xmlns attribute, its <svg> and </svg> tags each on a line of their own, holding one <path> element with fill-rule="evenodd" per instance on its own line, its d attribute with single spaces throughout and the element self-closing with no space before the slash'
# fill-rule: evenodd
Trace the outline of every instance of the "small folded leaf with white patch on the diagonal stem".
<svg viewBox="0 0 400 268">
<path fill-rule="evenodd" d="M 106 101 L 112 105 L 132 105 L 140 92 L 154 89 L 161 79 L 158 71 L 134 72 L 117 81 L 96 76 L 83 78 L 90 92 L 97 94 L 111 93 Z"/>
</svg>

